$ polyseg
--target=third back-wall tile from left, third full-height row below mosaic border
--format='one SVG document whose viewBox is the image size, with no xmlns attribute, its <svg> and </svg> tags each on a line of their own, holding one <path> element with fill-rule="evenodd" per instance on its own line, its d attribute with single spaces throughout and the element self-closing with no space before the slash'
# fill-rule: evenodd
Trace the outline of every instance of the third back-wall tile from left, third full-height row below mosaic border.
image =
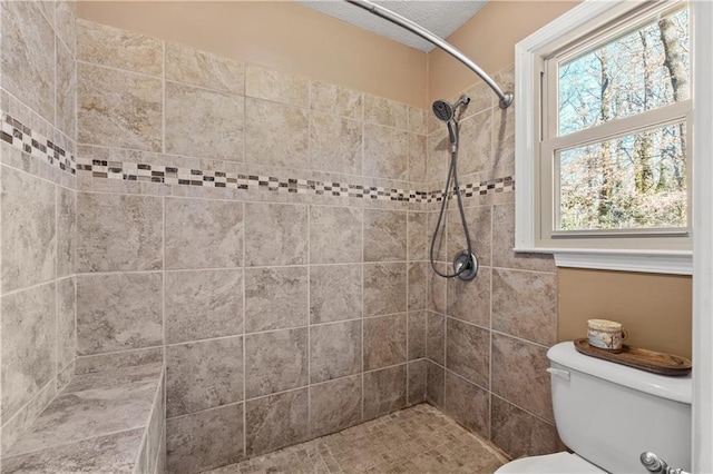
<svg viewBox="0 0 713 474">
<path fill-rule="evenodd" d="M 245 336 L 245 396 L 307 385 L 307 338 L 306 327 Z"/>
</svg>

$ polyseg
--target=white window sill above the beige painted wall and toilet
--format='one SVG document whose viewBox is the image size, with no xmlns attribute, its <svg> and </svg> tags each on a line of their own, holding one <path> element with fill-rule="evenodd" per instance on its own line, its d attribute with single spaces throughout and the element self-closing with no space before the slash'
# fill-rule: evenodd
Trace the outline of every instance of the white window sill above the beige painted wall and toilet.
<svg viewBox="0 0 713 474">
<path fill-rule="evenodd" d="M 515 248 L 515 251 L 553 254 L 555 256 L 555 264 L 558 267 L 693 275 L 693 253 L 686 250 Z"/>
</svg>

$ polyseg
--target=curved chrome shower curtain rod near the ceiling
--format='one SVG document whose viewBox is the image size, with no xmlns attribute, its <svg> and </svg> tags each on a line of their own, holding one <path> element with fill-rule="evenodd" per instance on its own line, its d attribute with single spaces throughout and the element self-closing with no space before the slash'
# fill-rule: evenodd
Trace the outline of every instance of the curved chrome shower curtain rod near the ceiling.
<svg viewBox="0 0 713 474">
<path fill-rule="evenodd" d="M 403 18 L 400 14 L 394 13 L 393 11 L 387 8 L 374 4 L 369 0 L 344 0 L 344 1 L 355 4 L 356 7 L 363 8 L 364 10 L 378 17 L 381 17 L 384 20 L 389 20 L 394 24 L 406 28 L 412 33 L 420 36 L 424 40 L 436 45 L 437 47 L 448 52 L 453 58 L 458 59 L 460 62 L 466 65 L 468 69 L 477 73 L 480 77 L 480 79 L 482 79 L 488 86 L 490 86 L 490 89 L 492 89 L 494 92 L 500 98 L 501 109 L 507 109 L 510 106 L 510 103 L 512 103 L 512 92 L 504 92 L 502 89 L 500 89 L 500 87 L 492 80 L 492 78 L 488 76 L 486 71 L 480 69 L 478 65 L 471 61 L 466 55 L 460 52 L 458 49 L 453 48 L 449 42 L 440 39 L 439 37 L 433 34 L 426 28 L 421 27 L 418 23 L 414 23 L 408 18 Z"/>
</svg>

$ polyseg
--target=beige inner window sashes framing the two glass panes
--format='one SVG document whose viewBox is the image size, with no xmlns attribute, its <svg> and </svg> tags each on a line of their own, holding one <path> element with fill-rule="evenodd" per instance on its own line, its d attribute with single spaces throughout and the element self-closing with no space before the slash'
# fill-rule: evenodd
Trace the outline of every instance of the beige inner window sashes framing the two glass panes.
<svg viewBox="0 0 713 474">
<path fill-rule="evenodd" d="M 540 56 L 539 68 L 539 100 L 536 105 L 540 108 L 539 120 L 539 145 L 536 149 L 536 166 L 540 179 L 536 180 L 535 194 L 539 197 L 539 213 L 535 216 L 537 224 L 536 240 L 538 246 L 547 247 L 600 247 L 632 248 L 632 243 L 636 238 L 645 238 L 652 247 L 658 245 L 662 248 L 690 248 L 692 192 L 691 180 L 692 169 L 692 144 L 693 124 L 692 109 L 693 100 L 686 99 L 680 102 L 646 110 L 628 117 L 616 118 L 604 124 L 559 136 L 559 63 L 566 62 L 575 57 L 585 55 L 588 51 L 600 48 L 617 37 L 627 34 L 637 28 L 651 22 L 652 16 L 670 14 L 681 8 L 683 1 L 647 3 L 638 8 L 627 8 L 626 11 L 618 11 L 616 17 L 589 30 L 587 40 L 580 41 L 584 34 L 568 37 L 566 40 L 550 46 L 548 53 Z M 688 29 L 691 29 L 692 14 L 688 16 Z M 691 51 L 693 55 L 693 51 Z M 559 190 L 559 169 L 555 154 L 559 150 L 603 142 L 608 139 L 635 134 L 651 128 L 662 127 L 670 124 L 684 122 L 686 128 L 686 194 L 687 209 L 685 227 L 676 228 L 631 228 L 631 229 L 587 229 L 587 230 L 557 230 L 555 218 L 558 216 L 559 205 L 556 194 Z M 671 238 L 680 240 L 671 243 Z M 685 237 L 685 238 L 682 238 Z M 567 239 L 570 241 L 568 243 Z M 613 241 L 616 240 L 616 241 Z M 636 248 L 635 246 L 633 248 Z"/>
</svg>

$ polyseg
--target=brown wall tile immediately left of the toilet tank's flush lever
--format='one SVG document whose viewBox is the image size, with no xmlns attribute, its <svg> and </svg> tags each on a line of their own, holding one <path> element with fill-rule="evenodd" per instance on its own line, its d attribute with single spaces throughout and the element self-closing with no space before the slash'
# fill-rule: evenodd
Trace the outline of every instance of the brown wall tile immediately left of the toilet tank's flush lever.
<svg viewBox="0 0 713 474">
<path fill-rule="evenodd" d="M 547 347 L 492 335 L 492 392 L 554 423 Z"/>
</svg>

